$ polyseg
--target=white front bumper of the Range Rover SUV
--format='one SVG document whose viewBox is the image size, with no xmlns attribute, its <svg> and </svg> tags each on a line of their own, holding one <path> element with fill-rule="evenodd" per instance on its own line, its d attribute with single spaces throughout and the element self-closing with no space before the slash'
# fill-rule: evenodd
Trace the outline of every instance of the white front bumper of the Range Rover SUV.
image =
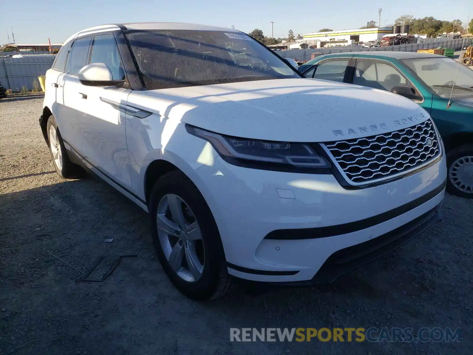
<svg viewBox="0 0 473 355">
<path fill-rule="evenodd" d="M 399 180 L 348 190 L 332 175 L 247 169 L 217 157 L 190 178 L 215 218 L 230 275 L 320 283 L 438 221 L 446 176 L 442 156 Z"/>
</svg>

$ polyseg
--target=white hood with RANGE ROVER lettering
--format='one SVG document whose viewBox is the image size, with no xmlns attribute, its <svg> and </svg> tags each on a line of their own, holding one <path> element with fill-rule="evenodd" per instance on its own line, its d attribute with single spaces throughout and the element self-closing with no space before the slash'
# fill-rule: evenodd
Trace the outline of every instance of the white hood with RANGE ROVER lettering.
<svg viewBox="0 0 473 355">
<path fill-rule="evenodd" d="M 138 92 L 135 92 L 138 94 Z M 237 137 L 328 142 L 392 132 L 429 118 L 390 92 L 315 79 L 259 80 L 140 91 L 133 106 Z"/>
</svg>

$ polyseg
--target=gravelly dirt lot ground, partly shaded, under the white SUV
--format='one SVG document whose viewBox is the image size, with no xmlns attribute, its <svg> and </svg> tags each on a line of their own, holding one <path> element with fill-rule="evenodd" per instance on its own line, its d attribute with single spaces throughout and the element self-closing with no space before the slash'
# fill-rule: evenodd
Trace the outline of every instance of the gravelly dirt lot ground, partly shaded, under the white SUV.
<svg viewBox="0 0 473 355">
<path fill-rule="evenodd" d="M 473 353 L 473 201 L 447 195 L 444 222 L 331 285 L 193 302 L 162 271 L 146 213 L 101 181 L 56 175 L 41 107 L 0 100 L 1 355 Z M 124 254 L 138 257 L 109 283 L 76 281 Z M 236 343 L 231 327 L 462 330 L 459 343 Z"/>
</svg>

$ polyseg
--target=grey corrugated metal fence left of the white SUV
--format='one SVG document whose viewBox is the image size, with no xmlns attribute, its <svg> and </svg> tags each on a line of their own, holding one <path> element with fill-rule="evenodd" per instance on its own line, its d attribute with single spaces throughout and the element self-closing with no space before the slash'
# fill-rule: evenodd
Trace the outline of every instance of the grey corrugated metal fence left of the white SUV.
<svg viewBox="0 0 473 355">
<path fill-rule="evenodd" d="M 53 62 L 52 55 L 0 58 L 0 82 L 13 91 L 19 91 L 23 86 L 33 89 L 33 81 L 38 82 L 38 76 L 46 74 Z"/>
</svg>

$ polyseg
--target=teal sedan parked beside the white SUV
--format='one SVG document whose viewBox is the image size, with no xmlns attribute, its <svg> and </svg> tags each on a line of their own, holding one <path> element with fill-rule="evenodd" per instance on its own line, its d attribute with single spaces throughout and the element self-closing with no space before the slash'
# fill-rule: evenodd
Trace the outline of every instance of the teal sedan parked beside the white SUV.
<svg viewBox="0 0 473 355">
<path fill-rule="evenodd" d="M 351 52 L 321 55 L 298 71 L 306 78 L 367 86 L 417 102 L 444 142 L 447 191 L 473 198 L 473 70 L 438 54 Z"/>
</svg>

